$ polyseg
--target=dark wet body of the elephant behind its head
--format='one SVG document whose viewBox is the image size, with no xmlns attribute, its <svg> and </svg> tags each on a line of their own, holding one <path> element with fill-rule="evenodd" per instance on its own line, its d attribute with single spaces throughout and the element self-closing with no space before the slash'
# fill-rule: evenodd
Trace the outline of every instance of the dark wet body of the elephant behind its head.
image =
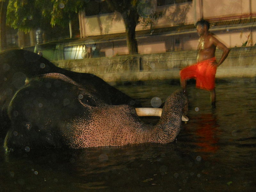
<svg viewBox="0 0 256 192">
<path fill-rule="evenodd" d="M 11 124 L 7 108 L 14 94 L 26 84 L 26 79 L 46 73 L 60 73 L 82 84 L 90 92 L 110 105 L 129 104 L 140 106 L 137 100 L 117 90 L 101 78 L 89 73 L 76 73 L 56 67 L 42 56 L 23 49 L 12 49 L 0 53 L 0 142 Z"/>
</svg>

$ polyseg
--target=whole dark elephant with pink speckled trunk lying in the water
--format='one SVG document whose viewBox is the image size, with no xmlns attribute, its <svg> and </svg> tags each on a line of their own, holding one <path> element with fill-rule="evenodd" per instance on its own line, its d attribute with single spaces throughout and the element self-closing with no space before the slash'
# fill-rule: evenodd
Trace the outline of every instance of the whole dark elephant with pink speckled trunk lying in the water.
<svg viewBox="0 0 256 192">
<path fill-rule="evenodd" d="M 177 137 L 188 111 L 186 95 L 175 92 L 163 109 L 145 114 L 135 108 L 139 102 L 101 78 L 58 68 L 26 50 L 0 53 L 0 67 L 6 151 L 168 143 Z M 161 116 L 155 126 L 140 120 L 152 114 Z"/>
</svg>

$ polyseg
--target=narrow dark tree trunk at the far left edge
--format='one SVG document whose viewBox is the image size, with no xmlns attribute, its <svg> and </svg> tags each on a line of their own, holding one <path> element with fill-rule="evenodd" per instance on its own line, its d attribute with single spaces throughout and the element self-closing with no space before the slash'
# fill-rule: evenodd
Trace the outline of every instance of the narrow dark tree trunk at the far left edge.
<svg viewBox="0 0 256 192">
<path fill-rule="evenodd" d="M 8 1 L 0 2 L 0 51 L 7 48 L 6 43 L 6 12 Z"/>
</svg>

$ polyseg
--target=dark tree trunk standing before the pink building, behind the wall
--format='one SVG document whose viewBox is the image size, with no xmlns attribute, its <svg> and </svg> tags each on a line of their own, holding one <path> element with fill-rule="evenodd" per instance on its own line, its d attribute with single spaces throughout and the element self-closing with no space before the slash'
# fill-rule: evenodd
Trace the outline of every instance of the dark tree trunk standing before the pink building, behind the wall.
<svg viewBox="0 0 256 192">
<path fill-rule="evenodd" d="M 135 28 L 138 24 L 138 13 L 136 11 L 125 11 L 122 13 L 125 25 L 126 43 L 130 54 L 138 54 Z"/>
</svg>

